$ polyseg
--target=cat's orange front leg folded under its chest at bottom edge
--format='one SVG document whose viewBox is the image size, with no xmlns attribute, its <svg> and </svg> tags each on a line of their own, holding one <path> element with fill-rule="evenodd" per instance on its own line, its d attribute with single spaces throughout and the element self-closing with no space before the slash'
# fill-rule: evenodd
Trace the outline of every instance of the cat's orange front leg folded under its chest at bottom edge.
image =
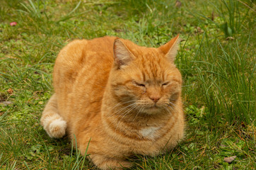
<svg viewBox="0 0 256 170">
<path fill-rule="evenodd" d="M 132 167 L 132 163 L 126 161 L 124 158 L 111 158 L 100 154 L 91 154 L 90 158 L 93 164 L 103 170 L 123 169 Z"/>
</svg>

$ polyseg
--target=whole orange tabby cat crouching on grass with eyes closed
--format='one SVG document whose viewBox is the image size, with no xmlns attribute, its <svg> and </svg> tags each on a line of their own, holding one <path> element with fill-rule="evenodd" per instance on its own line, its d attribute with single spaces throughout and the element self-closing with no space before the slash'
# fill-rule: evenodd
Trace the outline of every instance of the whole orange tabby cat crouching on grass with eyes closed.
<svg viewBox="0 0 256 170">
<path fill-rule="evenodd" d="M 178 36 L 158 48 L 115 37 L 74 40 L 57 57 L 43 128 L 50 137 L 76 137 L 82 154 L 90 141 L 87 154 L 100 169 L 169 151 L 185 126 L 177 50 Z"/>
</svg>

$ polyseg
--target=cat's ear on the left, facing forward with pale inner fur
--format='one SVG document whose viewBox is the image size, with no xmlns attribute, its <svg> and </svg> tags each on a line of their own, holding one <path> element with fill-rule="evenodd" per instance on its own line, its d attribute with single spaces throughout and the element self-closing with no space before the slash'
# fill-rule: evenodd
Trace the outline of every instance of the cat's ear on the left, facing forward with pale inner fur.
<svg viewBox="0 0 256 170">
<path fill-rule="evenodd" d="M 114 42 L 114 60 L 117 67 L 120 69 L 122 66 L 127 65 L 133 58 L 132 52 L 120 39 Z"/>
</svg>

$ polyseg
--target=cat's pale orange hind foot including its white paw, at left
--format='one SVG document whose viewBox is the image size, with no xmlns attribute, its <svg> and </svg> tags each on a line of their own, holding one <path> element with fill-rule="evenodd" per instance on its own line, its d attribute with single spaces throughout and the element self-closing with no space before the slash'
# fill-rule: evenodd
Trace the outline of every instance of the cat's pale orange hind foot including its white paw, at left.
<svg viewBox="0 0 256 170">
<path fill-rule="evenodd" d="M 50 137 L 63 137 L 66 132 L 66 121 L 58 113 L 57 96 L 53 94 L 40 119 L 41 125 Z"/>
</svg>

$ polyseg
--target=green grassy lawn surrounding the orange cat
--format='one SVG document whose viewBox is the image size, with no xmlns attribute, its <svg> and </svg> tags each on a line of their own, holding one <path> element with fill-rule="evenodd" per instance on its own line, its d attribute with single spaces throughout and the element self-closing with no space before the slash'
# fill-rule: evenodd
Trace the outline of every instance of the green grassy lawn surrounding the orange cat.
<svg viewBox="0 0 256 170">
<path fill-rule="evenodd" d="M 254 169 L 255 13 L 252 0 L 1 0 L 0 169 L 96 169 L 39 123 L 64 45 L 115 35 L 158 47 L 178 33 L 185 140 L 132 169 Z"/>
</svg>

